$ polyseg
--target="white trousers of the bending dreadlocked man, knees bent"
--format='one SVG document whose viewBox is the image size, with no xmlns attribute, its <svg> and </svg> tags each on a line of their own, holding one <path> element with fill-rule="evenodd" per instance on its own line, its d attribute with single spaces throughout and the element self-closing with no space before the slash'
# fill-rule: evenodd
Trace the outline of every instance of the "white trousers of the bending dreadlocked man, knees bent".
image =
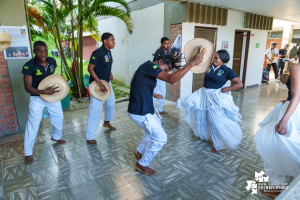
<svg viewBox="0 0 300 200">
<path fill-rule="evenodd" d="M 161 127 L 160 119 L 155 114 L 147 114 L 145 116 L 128 114 L 132 121 L 145 131 L 137 151 L 143 155 L 143 158 L 139 160 L 139 164 L 147 167 L 158 151 L 167 143 L 167 134 Z"/>
</svg>

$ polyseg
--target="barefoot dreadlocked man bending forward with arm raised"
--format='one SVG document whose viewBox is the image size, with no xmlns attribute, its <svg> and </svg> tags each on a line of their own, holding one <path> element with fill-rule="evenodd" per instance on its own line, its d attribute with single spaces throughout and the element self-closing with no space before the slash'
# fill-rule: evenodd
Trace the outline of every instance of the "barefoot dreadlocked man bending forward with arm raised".
<svg viewBox="0 0 300 200">
<path fill-rule="evenodd" d="M 167 135 L 161 126 L 160 119 L 154 114 L 152 96 L 156 78 L 171 84 L 176 83 L 194 65 L 201 63 L 202 59 L 203 53 L 199 53 L 183 69 L 169 74 L 168 72 L 178 68 L 181 62 L 180 50 L 171 48 L 160 55 L 158 61 L 147 61 L 135 71 L 131 80 L 128 114 L 132 121 L 145 131 L 138 148 L 134 150 L 138 160 L 135 168 L 141 173 L 145 175 L 156 173 L 148 166 L 158 151 L 167 143 Z"/>
</svg>

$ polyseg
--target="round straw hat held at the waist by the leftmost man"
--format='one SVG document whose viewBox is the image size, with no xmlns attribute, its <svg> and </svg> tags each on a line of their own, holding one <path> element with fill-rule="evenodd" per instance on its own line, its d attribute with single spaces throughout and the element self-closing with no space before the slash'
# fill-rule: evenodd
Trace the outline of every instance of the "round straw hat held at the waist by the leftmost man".
<svg viewBox="0 0 300 200">
<path fill-rule="evenodd" d="M 66 79 L 58 74 L 53 74 L 44 78 L 40 82 L 38 89 L 45 90 L 51 86 L 58 87 L 57 90 L 59 90 L 59 92 L 55 92 L 52 95 L 40 94 L 41 98 L 43 98 L 45 101 L 48 101 L 50 103 L 54 103 L 62 100 L 67 96 L 67 94 L 70 91 L 70 87 Z"/>
</svg>

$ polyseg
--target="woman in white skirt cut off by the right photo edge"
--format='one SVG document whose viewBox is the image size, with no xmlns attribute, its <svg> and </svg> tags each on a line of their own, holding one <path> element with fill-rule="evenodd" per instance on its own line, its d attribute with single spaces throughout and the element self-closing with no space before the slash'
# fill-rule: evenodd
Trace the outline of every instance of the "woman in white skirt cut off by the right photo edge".
<svg viewBox="0 0 300 200">
<path fill-rule="evenodd" d="M 300 174 L 300 65 L 290 68 L 287 100 L 281 101 L 259 123 L 256 149 L 264 160 L 264 171 L 273 183 L 290 183 Z M 261 191 L 276 197 L 279 193 Z"/>
</svg>

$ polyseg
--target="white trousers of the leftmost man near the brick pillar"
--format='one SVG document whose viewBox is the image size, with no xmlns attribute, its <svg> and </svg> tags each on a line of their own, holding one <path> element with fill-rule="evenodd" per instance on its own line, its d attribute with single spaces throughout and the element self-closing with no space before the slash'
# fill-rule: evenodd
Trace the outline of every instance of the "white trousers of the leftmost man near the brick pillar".
<svg viewBox="0 0 300 200">
<path fill-rule="evenodd" d="M 61 107 L 61 102 L 50 103 L 43 100 L 39 96 L 31 96 L 29 102 L 28 121 L 25 129 L 24 153 L 25 156 L 32 155 L 32 149 L 35 142 L 35 137 L 38 133 L 40 122 L 43 117 L 43 109 L 47 108 L 49 119 L 53 126 L 52 138 L 60 140 L 62 136 L 62 128 L 64 123 L 64 115 Z"/>
</svg>

